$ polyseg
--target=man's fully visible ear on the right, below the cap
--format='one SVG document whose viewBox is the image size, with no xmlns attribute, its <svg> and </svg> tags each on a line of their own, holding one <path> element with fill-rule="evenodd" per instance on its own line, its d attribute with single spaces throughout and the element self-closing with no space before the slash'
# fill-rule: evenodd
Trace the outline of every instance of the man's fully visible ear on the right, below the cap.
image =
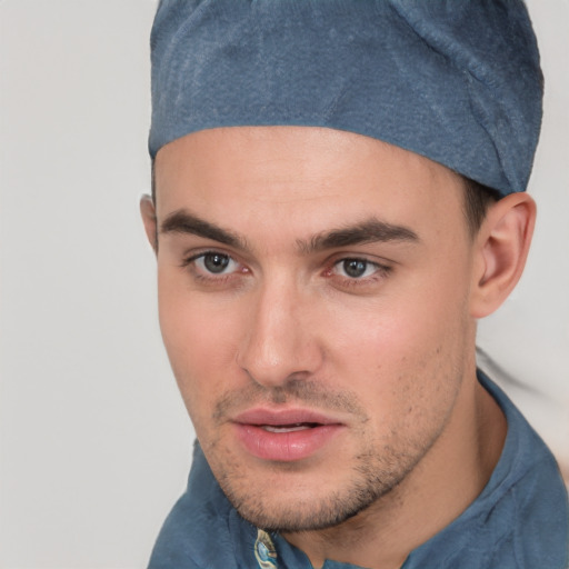
<svg viewBox="0 0 569 569">
<path fill-rule="evenodd" d="M 488 210 L 478 233 L 470 315 L 491 315 L 510 295 L 523 272 L 536 202 L 526 192 L 511 193 Z"/>
</svg>

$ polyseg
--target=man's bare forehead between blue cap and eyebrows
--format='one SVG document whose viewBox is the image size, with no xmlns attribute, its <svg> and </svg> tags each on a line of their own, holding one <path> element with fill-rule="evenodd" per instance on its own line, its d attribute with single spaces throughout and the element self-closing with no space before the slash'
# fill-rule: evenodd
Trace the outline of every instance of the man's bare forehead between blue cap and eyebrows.
<svg viewBox="0 0 569 569">
<path fill-rule="evenodd" d="M 246 233 L 280 227 L 308 234 L 366 216 L 425 226 L 423 231 L 465 226 L 458 174 L 351 132 L 315 127 L 204 130 L 164 146 L 154 166 L 159 219 L 189 209 Z"/>
</svg>

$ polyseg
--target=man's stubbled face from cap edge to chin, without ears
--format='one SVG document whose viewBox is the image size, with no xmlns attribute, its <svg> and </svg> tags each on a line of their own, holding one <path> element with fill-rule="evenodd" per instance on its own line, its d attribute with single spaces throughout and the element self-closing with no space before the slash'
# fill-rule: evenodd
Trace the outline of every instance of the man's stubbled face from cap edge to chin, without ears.
<svg viewBox="0 0 569 569">
<path fill-rule="evenodd" d="M 192 133 L 156 174 L 162 335 L 240 513 L 323 528 L 409 478 L 473 370 L 459 177 L 306 127 Z"/>
</svg>

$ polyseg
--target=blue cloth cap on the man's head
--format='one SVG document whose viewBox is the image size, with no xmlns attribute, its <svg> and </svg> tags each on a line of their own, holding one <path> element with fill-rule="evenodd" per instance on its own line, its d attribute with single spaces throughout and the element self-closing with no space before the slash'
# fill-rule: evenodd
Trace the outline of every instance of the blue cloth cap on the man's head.
<svg viewBox="0 0 569 569">
<path fill-rule="evenodd" d="M 149 150 L 232 126 L 328 127 L 508 194 L 541 123 L 521 0 L 162 0 Z"/>
</svg>

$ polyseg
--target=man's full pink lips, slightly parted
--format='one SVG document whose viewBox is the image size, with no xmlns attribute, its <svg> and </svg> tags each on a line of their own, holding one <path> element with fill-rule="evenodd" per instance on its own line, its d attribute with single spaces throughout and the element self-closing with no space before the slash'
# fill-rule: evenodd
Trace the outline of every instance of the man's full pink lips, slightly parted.
<svg viewBox="0 0 569 569">
<path fill-rule="evenodd" d="M 278 462 L 317 455 L 345 428 L 333 418 L 302 409 L 251 409 L 239 415 L 233 425 L 249 453 Z"/>
</svg>

